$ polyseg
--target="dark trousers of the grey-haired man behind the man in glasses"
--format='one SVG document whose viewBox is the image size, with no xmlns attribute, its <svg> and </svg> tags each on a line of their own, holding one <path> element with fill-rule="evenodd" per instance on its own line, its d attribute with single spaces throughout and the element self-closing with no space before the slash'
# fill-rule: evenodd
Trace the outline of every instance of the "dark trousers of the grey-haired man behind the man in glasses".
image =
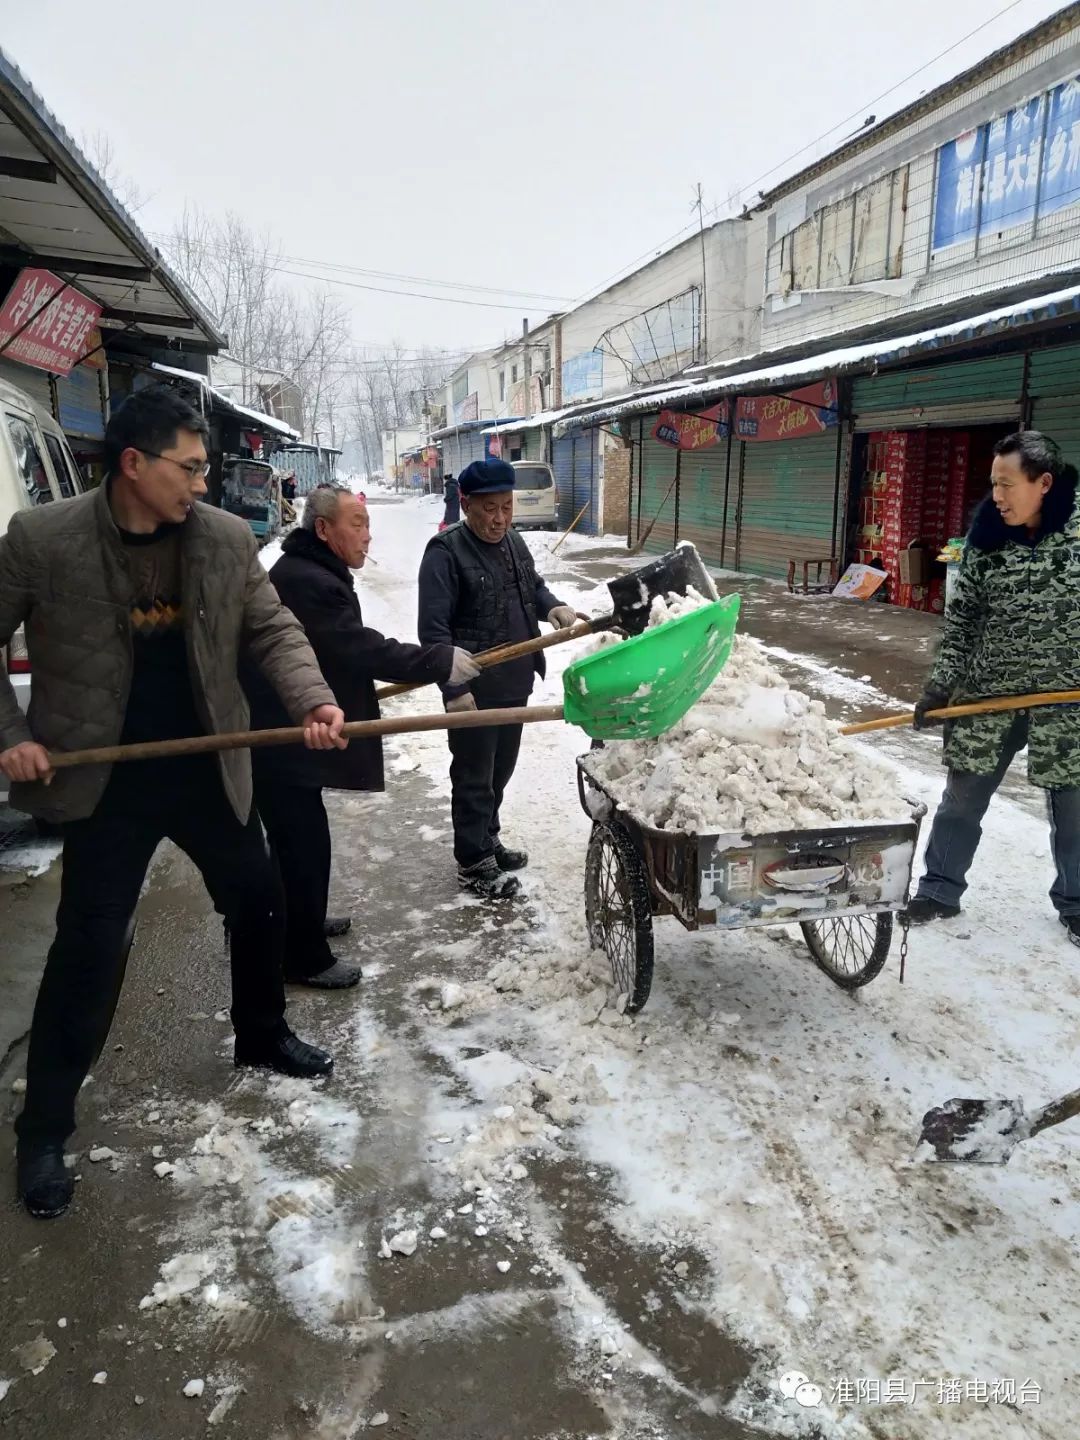
<svg viewBox="0 0 1080 1440">
<path fill-rule="evenodd" d="M 279 785 L 255 770 L 255 804 L 285 894 L 285 976 L 334 963 L 323 927 L 330 899 L 330 821 L 323 791 Z"/>
</svg>

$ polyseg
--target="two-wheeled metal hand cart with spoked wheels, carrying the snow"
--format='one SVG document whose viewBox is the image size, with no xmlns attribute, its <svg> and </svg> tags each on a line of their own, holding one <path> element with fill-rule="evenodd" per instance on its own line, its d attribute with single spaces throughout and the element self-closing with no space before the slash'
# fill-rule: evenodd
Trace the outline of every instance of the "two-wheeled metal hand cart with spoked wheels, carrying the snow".
<svg viewBox="0 0 1080 1440">
<path fill-rule="evenodd" d="M 799 924 L 816 965 L 842 989 L 868 985 L 888 956 L 893 914 L 907 904 L 919 828 L 878 825 L 690 835 L 642 824 L 577 760 L 582 808 L 593 822 L 585 861 L 589 942 L 611 960 L 625 1008 L 652 986 L 652 917 L 687 930 Z"/>
</svg>

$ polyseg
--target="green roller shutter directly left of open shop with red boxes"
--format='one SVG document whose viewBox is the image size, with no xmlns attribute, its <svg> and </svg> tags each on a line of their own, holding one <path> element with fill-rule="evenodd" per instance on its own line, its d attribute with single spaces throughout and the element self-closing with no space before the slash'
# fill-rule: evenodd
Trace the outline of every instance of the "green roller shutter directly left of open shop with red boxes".
<svg viewBox="0 0 1080 1440">
<path fill-rule="evenodd" d="M 736 569 L 780 579 L 791 559 L 831 556 L 837 432 L 744 442 L 740 500 Z"/>
</svg>

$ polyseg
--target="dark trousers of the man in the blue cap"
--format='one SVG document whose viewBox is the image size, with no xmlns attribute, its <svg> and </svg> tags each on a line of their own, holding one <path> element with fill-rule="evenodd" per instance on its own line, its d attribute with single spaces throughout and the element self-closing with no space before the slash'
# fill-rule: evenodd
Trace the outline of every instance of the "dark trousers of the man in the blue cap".
<svg viewBox="0 0 1080 1440">
<path fill-rule="evenodd" d="M 514 708 L 527 700 L 481 700 L 481 710 Z M 454 858 L 459 865 L 477 865 L 495 852 L 498 809 L 521 749 L 521 726 L 503 724 L 484 730 L 449 730 L 451 815 Z"/>
</svg>

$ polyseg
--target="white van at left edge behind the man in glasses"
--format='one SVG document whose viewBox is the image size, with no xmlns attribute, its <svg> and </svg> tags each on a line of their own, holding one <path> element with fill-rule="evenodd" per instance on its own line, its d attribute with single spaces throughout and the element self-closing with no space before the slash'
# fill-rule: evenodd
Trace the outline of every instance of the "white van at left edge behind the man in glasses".
<svg viewBox="0 0 1080 1440">
<path fill-rule="evenodd" d="M 0 379 L 0 534 L 16 510 L 68 500 L 84 490 L 79 467 L 63 431 L 23 390 Z M 4 664 L 23 713 L 30 704 L 30 664 L 22 628 L 4 652 Z M 7 780 L 0 775 L 0 804 Z"/>
</svg>

